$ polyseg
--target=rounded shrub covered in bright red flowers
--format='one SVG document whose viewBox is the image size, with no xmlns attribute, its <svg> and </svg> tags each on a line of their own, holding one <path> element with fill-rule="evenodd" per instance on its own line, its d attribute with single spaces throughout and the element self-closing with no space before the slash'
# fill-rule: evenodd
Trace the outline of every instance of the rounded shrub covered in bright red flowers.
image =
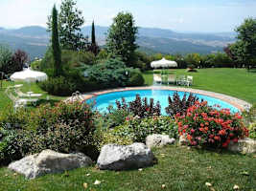
<svg viewBox="0 0 256 191">
<path fill-rule="evenodd" d="M 248 137 L 240 114 L 231 114 L 228 109 L 217 110 L 206 101 L 188 108 L 183 116 L 176 114 L 179 135 L 184 135 L 190 145 L 227 147 L 229 142 Z"/>
</svg>

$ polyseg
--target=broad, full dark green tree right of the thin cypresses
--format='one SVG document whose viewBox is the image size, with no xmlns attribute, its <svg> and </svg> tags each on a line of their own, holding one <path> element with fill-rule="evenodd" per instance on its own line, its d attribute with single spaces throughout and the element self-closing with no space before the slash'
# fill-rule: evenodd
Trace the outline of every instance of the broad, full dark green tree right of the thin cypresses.
<svg viewBox="0 0 256 191">
<path fill-rule="evenodd" d="M 112 56 L 121 57 L 128 65 L 132 65 L 133 55 L 138 48 L 136 34 L 138 28 L 131 13 L 119 12 L 110 26 L 106 38 L 106 50 Z"/>
</svg>

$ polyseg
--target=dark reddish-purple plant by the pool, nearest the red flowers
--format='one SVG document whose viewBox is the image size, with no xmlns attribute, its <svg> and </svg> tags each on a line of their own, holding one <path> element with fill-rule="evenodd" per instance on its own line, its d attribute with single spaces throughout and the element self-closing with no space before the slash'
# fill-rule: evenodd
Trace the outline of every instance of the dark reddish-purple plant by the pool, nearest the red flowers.
<svg viewBox="0 0 256 191">
<path fill-rule="evenodd" d="M 192 93 L 187 98 L 187 94 L 184 94 L 183 98 L 181 99 L 180 96 L 178 96 L 178 93 L 175 92 L 173 98 L 171 96 L 168 96 L 168 107 L 165 108 L 166 113 L 170 117 L 175 117 L 176 114 L 180 114 L 183 116 L 186 114 L 187 109 L 193 105 L 195 105 L 196 101 L 198 101 L 198 97 L 194 96 Z"/>
</svg>

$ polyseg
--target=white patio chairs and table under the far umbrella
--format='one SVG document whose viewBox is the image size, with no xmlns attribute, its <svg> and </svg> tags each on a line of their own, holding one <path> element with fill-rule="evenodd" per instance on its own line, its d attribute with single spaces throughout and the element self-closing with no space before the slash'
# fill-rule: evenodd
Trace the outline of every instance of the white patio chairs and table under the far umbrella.
<svg viewBox="0 0 256 191">
<path fill-rule="evenodd" d="M 153 74 L 153 82 L 160 84 L 175 84 L 189 87 L 193 84 L 193 76 L 176 76 L 175 74 Z"/>
</svg>

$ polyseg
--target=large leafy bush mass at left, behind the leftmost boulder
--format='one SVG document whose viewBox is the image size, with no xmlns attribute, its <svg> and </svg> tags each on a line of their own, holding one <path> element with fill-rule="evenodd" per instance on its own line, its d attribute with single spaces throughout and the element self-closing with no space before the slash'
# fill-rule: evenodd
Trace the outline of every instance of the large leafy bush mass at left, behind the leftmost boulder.
<svg viewBox="0 0 256 191">
<path fill-rule="evenodd" d="M 80 151 L 90 156 L 88 147 L 99 144 L 93 116 L 90 106 L 80 102 L 59 102 L 55 106 L 39 106 L 34 111 L 1 114 L 0 163 L 44 149 Z"/>
</svg>

